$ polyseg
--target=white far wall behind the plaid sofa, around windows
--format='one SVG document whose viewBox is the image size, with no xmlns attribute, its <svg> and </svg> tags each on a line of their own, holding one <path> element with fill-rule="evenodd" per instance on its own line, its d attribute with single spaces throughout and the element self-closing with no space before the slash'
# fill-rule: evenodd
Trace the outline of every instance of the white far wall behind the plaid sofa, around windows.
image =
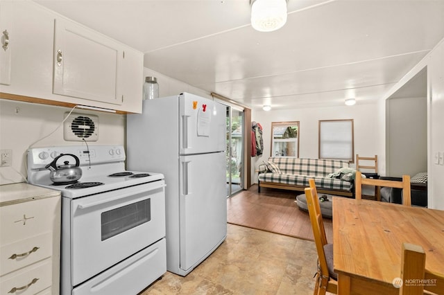
<svg viewBox="0 0 444 295">
<path fill-rule="evenodd" d="M 341 107 L 316 107 L 303 109 L 284 109 L 262 111 L 252 110 L 252 120 L 263 127 L 264 153 L 261 157 L 252 159 L 252 183 L 257 183 L 257 166 L 266 161 L 271 153 L 271 123 L 280 121 L 299 121 L 299 157 L 318 158 L 318 121 L 353 119 L 355 135 L 355 154 L 363 157 L 373 157 L 381 153 L 383 149 L 380 138 L 384 138 L 383 130 L 377 121 L 381 116 L 378 105 L 359 105 L 359 99 L 354 106 L 343 105 Z M 382 135 L 381 135 L 382 134 Z M 354 166 L 354 164 L 352 164 Z M 385 166 L 382 165 L 379 173 L 384 175 Z"/>
</svg>

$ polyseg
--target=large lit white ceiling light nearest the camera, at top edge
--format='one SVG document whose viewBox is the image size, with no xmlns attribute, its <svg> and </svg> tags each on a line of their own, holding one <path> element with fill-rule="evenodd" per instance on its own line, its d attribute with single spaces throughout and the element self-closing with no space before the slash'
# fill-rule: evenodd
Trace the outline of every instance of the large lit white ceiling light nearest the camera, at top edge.
<svg viewBox="0 0 444 295">
<path fill-rule="evenodd" d="M 278 30 L 287 22 L 288 0 L 250 0 L 251 26 L 259 32 Z"/>
</svg>

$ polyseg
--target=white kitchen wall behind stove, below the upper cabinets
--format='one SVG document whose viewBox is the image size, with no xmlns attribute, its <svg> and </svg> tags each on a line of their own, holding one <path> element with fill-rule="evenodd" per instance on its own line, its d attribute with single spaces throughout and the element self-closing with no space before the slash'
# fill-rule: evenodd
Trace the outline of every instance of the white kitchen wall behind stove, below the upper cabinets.
<svg viewBox="0 0 444 295">
<path fill-rule="evenodd" d="M 26 150 L 35 141 L 56 130 L 69 111 L 71 109 L 67 107 L 0 99 L 0 149 L 12 150 L 12 166 L 0 168 L 0 184 L 24 181 Z M 74 113 L 99 116 L 99 140 L 89 144 L 123 145 L 125 142 L 124 115 L 84 109 L 74 109 Z M 81 141 L 65 141 L 61 125 L 51 136 L 35 143 L 33 147 L 83 144 Z"/>
</svg>

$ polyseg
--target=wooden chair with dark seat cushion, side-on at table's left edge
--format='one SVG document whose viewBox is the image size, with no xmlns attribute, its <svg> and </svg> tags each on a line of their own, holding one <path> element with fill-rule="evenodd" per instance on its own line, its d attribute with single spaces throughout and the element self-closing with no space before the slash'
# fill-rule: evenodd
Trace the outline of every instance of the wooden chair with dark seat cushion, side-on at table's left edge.
<svg viewBox="0 0 444 295">
<path fill-rule="evenodd" d="M 314 242 L 316 244 L 316 250 L 318 251 L 318 271 L 315 275 L 316 283 L 314 294 L 325 294 L 325 292 L 337 294 L 337 276 L 333 272 L 333 245 L 327 244 L 327 237 L 325 235 L 321 207 L 319 206 L 318 193 L 316 191 L 314 179 L 310 179 L 309 184 L 310 187 L 305 188 L 305 196 L 307 197 L 307 207 L 311 228 L 313 229 Z M 331 260 L 327 261 L 326 251 L 327 255 L 331 257 Z"/>
</svg>

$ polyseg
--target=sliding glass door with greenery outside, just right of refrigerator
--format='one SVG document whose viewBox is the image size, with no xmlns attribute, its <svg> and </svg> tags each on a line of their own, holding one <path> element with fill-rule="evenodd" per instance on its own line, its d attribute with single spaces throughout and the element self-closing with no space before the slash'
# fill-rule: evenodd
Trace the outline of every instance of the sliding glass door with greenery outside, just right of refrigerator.
<svg viewBox="0 0 444 295">
<path fill-rule="evenodd" d="M 227 105 L 227 197 L 244 188 L 244 111 Z"/>
</svg>

